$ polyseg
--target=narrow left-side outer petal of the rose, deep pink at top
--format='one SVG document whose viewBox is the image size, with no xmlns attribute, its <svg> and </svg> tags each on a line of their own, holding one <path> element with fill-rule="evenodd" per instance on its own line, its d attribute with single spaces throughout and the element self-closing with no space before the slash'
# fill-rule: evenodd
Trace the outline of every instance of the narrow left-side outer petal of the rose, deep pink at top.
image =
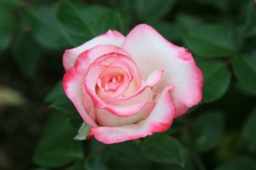
<svg viewBox="0 0 256 170">
<path fill-rule="evenodd" d="M 83 105 L 83 82 L 84 73 L 77 72 L 75 67 L 70 68 L 63 78 L 63 88 L 70 100 L 75 105 L 84 122 L 91 127 L 98 127 L 93 119 L 90 118 Z"/>
</svg>

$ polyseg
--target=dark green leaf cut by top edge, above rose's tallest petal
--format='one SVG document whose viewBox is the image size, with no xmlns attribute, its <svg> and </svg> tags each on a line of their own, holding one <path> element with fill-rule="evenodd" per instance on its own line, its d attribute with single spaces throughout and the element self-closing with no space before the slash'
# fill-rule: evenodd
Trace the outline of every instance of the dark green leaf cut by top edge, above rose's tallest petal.
<svg viewBox="0 0 256 170">
<path fill-rule="evenodd" d="M 135 9 L 142 20 L 157 20 L 168 14 L 176 0 L 137 0 Z"/>
</svg>

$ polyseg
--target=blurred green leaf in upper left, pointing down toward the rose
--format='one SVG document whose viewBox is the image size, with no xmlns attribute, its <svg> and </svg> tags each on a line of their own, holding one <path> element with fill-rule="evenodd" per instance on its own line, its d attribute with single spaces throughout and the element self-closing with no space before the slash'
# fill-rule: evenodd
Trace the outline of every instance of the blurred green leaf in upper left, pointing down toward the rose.
<svg viewBox="0 0 256 170">
<path fill-rule="evenodd" d="M 50 50 L 61 48 L 63 41 L 58 30 L 54 6 L 44 4 L 36 8 L 27 8 L 23 20 L 40 45 Z"/>
</svg>

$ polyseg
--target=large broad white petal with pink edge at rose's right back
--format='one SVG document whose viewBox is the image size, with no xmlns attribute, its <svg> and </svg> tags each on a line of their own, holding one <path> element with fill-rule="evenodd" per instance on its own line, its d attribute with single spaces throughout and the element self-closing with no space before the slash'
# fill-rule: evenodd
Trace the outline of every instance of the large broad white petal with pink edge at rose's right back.
<svg viewBox="0 0 256 170">
<path fill-rule="evenodd" d="M 136 62 L 143 80 L 153 71 L 164 70 L 161 81 L 153 90 L 159 93 L 168 85 L 175 86 L 170 91 L 176 105 L 175 117 L 201 101 L 203 74 L 187 49 L 167 41 L 146 24 L 131 30 L 122 48 Z"/>
</svg>

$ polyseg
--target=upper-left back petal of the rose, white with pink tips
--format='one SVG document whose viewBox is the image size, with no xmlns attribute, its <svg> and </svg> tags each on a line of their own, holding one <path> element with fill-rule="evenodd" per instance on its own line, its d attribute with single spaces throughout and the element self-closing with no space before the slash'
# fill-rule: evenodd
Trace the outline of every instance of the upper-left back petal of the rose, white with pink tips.
<svg viewBox="0 0 256 170">
<path fill-rule="evenodd" d="M 97 45 L 108 44 L 108 45 L 115 45 L 120 47 L 124 38 L 125 37 L 118 31 L 108 30 L 108 32 L 106 32 L 105 34 L 99 35 L 98 37 L 95 37 L 92 40 L 85 42 L 84 44 L 76 48 L 66 50 L 63 55 L 63 65 L 64 65 L 65 71 L 67 71 L 69 68 L 74 66 L 77 57 L 82 52 L 89 50 L 90 48 L 93 48 Z"/>
</svg>

